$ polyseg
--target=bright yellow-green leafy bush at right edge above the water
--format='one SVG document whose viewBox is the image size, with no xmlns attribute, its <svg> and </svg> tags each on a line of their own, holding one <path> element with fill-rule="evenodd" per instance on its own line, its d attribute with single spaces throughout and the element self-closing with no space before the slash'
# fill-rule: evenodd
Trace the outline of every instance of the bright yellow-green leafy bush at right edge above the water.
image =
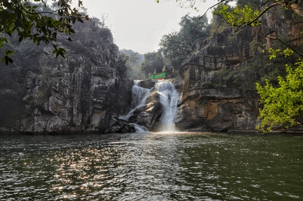
<svg viewBox="0 0 303 201">
<path fill-rule="evenodd" d="M 268 79 L 264 87 L 257 83 L 260 102 L 264 104 L 259 116 L 262 125 L 257 129 L 270 132 L 282 125 L 303 125 L 303 61 L 295 65 L 296 68 L 286 65 L 286 78 L 278 76 L 278 87 L 273 87 Z"/>
</svg>

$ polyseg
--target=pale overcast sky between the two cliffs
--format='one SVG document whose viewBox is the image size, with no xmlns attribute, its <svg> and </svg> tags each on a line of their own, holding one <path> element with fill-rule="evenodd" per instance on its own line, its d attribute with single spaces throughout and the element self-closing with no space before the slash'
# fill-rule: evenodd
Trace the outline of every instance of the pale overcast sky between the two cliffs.
<svg viewBox="0 0 303 201">
<path fill-rule="evenodd" d="M 89 17 L 108 15 L 106 25 L 112 30 L 119 49 L 140 54 L 157 51 L 163 35 L 180 29 L 181 17 L 203 15 L 217 1 L 207 0 L 193 9 L 180 8 L 175 0 L 82 0 Z M 78 1 L 74 1 L 78 2 Z M 197 1 L 198 2 L 198 1 Z M 211 17 L 209 12 L 208 17 Z"/>
</svg>

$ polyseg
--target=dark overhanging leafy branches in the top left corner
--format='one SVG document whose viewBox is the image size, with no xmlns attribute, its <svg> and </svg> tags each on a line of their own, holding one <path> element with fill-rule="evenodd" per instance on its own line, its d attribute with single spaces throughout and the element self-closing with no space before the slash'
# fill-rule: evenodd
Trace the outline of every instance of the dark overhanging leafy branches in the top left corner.
<svg viewBox="0 0 303 201">
<path fill-rule="evenodd" d="M 76 8 L 71 8 L 72 0 L 54 0 L 57 7 L 53 10 L 46 4 L 45 0 L 3 0 L 0 2 L 0 48 L 9 43 L 7 36 L 17 31 L 19 42 L 25 38 L 37 46 L 41 42 L 51 43 L 54 48 L 53 54 L 56 57 L 65 58 L 65 50 L 59 48 L 56 44 L 58 34 L 71 35 L 74 33 L 72 24 L 82 22 L 83 18 L 89 20 L 88 16 L 78 14 Z M 82 1 L 78 0 L 78 6 L 82 6 Z M 72 41 L 70 37 L 66 37 Z M 2 53 L 2 52 L 1 52 Z M 7 64 L 13 63 L 10 55 L 14 51 L 6 49 L 2 55 L 2 62 Z"/>
</svg>

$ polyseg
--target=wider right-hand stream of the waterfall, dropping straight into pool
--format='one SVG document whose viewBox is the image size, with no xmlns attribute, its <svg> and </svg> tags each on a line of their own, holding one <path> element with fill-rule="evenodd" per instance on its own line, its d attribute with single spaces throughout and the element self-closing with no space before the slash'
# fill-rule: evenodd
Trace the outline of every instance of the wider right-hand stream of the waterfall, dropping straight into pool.
<svg viewBox="0 0 303 201">
<path fill-rule="evenodd" d="M 177 131 L 174 118 L 177 112 L 179 94 L 170 81 L 160 81 L 155 85 L 155 91 L 160 94 L 160 102 L 163 105 L 161 131 Z"/>
</svg>

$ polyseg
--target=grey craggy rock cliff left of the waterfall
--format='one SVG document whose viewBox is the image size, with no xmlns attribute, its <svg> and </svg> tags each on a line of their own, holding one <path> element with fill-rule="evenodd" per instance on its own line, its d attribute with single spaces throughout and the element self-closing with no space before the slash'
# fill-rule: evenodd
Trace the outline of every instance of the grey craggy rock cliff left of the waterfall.
<svg viewBox="0 0 303 201">
<path fill-rule="evenodd" d="M 129 109 L 133 81 L 124 76 L 126 69 L 111 31 L 96 29 L 92 36 L 79 31 L 74 41 L 75 49 L 61 42 L 67 59 L 54 60 L 51 49 L 41 49 L 40 63 L 49 72 L 26 77 L 22 100 L 1 103 L 1 133 L 135 131 L 117 117 Z M 5 110 L 5 104 L 11 104 L 11 109 Z M 12 116 L 16 112 L 19 115 Z M 7 116 L 12 116 L 10 122 L 4 119 Z"/>
</svg>

